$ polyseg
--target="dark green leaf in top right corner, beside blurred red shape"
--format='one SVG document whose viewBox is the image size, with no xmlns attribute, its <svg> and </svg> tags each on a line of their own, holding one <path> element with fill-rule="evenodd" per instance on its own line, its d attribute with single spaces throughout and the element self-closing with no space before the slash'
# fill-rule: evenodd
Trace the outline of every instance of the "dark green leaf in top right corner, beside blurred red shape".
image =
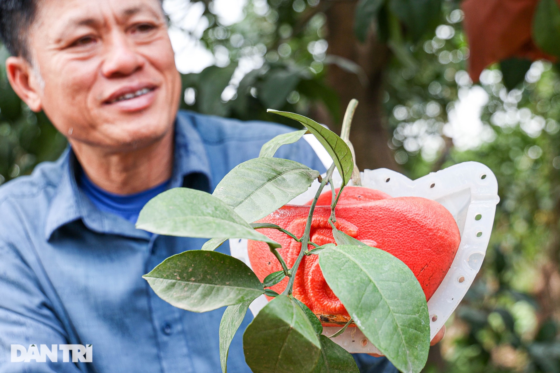
<svg viewBox="0 0 560 373">
<path fill-rule="evenodd" d="M 540 0 L 536 6 L 533 40 L 546 53 L 560 57 L 560 8 L 556 0 Z"/>
</svg>

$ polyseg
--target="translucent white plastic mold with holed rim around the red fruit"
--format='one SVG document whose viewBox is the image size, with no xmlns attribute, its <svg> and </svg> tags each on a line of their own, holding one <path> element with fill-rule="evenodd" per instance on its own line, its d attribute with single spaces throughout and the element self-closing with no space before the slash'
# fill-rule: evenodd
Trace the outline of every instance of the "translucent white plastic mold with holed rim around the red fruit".
<svg viewBox="0 0 560 373">
<path fill-rule="evenodd" d="M 317 150 L 316 152 L 323 155 Z M 325 157 L 320 158 L 323 160 Z M 323 162 L 327 163 L 328 160 L 325 158 Z M 496 205 L 500 201 L 496 177 L 487 166 L 478 162 L 456 164 L 417 180 L 410 180 L 403 174 L 386 168 L 366 169 L 361 172 L 361 176 L 362 186 L 384 191 L 392 197 L 424 197 L 440 202 L 450 211 L 459 226 L 461 242 L 455 259 L 441 285 L 428 301 L 433 338 L 459 305 L 482 265 L 492 232 Z M 340 180 L 340 177 L 337 179 Z M 315 182 L 307 192 L 291 203 L 303 204 L 309 201 L 318 186 L 319 183 Z M 232 256 L 251 267 L 246 239 L 230 239 L 230 249 Z M 259 313 L 266 304 L 264 295 L 255 299 L 250 305 L 253 315 Z M 339 329 L 325 327 L 323 334 L 330 336 Z M 333 341 L 348 352 L 379 353 L 358 328 L 347 328 L 340 336 L 333 338 Z"/>
</svg>

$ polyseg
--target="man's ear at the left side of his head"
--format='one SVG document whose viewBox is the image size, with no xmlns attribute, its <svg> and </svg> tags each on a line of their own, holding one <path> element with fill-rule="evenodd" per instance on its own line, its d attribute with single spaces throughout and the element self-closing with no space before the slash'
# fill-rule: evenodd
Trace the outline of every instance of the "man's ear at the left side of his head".
<svg viewBox="0 0 560 373">
<path fill-rule="evenodd" d="M 43 87 L 40 77 L 27 60 L 22 57 L 8 57 L 6 60 L 6 73 L 8 81 L 27 106 L 32 111 L 38 112 L 42 109 L 41 92 Z"/>
</svg>

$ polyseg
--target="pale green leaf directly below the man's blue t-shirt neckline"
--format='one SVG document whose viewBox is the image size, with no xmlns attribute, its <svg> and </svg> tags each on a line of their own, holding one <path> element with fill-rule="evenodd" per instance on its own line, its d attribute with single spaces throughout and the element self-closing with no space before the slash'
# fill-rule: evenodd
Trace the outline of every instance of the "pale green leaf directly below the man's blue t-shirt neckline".
<svg viewBox="0 0 560 373">
<path fill-rule="evenodd" d="M 281 247 L 256 232 L 222 200 L 195 189 L 173 188 L 144 206 L 136 228 L 180 237 L 248 238 Z"/>
</svg>

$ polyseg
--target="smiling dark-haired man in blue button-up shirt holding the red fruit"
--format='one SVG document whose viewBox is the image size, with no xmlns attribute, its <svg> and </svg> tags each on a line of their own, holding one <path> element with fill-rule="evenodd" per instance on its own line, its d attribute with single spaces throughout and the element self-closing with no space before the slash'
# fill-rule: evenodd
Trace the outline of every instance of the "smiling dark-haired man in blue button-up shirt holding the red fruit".
<svg viewBox="0 0 560 373">
<path fill-rule="evenodd" d="M 13 89 L 69 142 L 57 162 L 0 188 L 0 372 L 220 372 L 223 309 L 174 308 L 141 277 L 205 240 L 134 223 L 168 188 L 212 192 L 290 129 L 178 113 L 181 81 L 159 0 L 0 0 L 0 37 Z M 283 148 L 279 157 L 324 172 L 305 141 Z M 231 372 L 250 372 L 241 333 Z M 24 353 L 14 359 L 15 344 L 29 347 L 28 362 L 12 362 Z M 57 362 L 29 358 L 41 344 L 91 345 L 92 361 L 64 362 L 63 347 Z M 395 371 L 384 358 L 357 360 L 363 371 Z"/>
</svg>

